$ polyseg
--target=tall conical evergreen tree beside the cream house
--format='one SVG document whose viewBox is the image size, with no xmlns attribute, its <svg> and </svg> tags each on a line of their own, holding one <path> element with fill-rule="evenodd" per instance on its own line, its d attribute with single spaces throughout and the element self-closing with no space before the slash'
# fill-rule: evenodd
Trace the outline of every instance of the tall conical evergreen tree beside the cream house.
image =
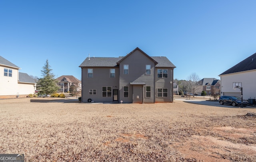
<svg viewBox="0 0 256 162">
<path fill-rule="evenodd" d="M 58 81 L 54 79 L 54 74 L 51 73 L 52 69 L 50 69 L 50 67 L 47 59 L 43 70 L 41 70 L 42 78 L 38 80 L 39 94 L 54 94 L 59 89 L 57 86 Z"/>
</svg>

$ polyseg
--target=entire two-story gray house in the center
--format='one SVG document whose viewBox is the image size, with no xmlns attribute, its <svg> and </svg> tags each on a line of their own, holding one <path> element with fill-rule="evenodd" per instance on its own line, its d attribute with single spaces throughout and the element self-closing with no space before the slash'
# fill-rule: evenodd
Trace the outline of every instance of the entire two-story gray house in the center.
<svg viewBox="0 0 256 162">
<path fill-rule="evenodd" d="M 82 68 L 82 102 L 173 102 L 174 64 L 135 48 L 124 57 L 86 58 Z"/>
</svg>

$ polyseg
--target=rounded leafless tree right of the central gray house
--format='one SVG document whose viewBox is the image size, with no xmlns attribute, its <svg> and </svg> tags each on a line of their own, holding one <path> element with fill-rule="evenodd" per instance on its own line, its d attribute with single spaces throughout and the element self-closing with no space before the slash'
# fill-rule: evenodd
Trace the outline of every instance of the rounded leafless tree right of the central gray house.
<svg viewBox="0 0 256 162">
<path fill-rule="evenodd" d="M 200 78 L 196 73 L 192 73 L 190 74 L 190 76 L 188 76 L 187 78 L 188 82 L 188 89 L 190 92 L 193 93 L 193 96 L 195 95 L 196 90 L 200 89 Z"/>
</svg>

